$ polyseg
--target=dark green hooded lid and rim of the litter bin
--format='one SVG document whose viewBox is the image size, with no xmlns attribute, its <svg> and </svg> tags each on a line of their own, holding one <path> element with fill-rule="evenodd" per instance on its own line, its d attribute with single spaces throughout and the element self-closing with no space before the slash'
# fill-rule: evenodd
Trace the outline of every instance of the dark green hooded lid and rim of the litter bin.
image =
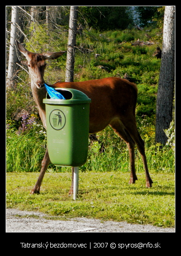
<svg viewBox="0 0 181 256">
<path fill-rule="evenodd" d="M 50 99 L 47 93 L 46 98 L 43 99 L 43 103 L 60 105 L 91 103 L 91 99 L 79 90 L 71 88 L 55 88 L 55 90 L 59 91 L 65 99 Z"/>
</svg>

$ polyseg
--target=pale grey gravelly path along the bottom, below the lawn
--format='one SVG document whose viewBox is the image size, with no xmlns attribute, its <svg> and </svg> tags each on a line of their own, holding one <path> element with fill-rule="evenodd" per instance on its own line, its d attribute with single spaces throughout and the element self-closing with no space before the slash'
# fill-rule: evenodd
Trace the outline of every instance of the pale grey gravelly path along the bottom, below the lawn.
<svg viewBox="0 0 181 256">
<path fill-rule="evenodd" d="M 101 221 L 89 218 L 49 220 L 48 215 L 7 209 L 6 232 L 175 232 L 174 228 L 152 225 L 128 224 L 126 222 Z"/>
</svg>

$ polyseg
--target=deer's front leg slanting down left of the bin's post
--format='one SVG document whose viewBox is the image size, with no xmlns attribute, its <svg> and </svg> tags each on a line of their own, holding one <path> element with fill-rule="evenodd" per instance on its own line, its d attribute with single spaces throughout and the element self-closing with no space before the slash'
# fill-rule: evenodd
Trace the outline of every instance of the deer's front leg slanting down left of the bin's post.
<svg viewBox="0 0 181 256">
<path fill-rule="evenodd" d="M 37 183 L 34 185 L 33 189 L 30 192 L 30 194 L 39 193 L 40 186 L 41 186 L 43 177 L 45 175 L 45 171 L 47 170 L 49 163 L 50 163 L 50 158 L 49 158 L 49 154 L 48 154 L 48 149 L 46 148 L 46 152 L 45 152 L 44 158 L 43 158 L 43 160 L 41 162 L 40 175 L 38 177 Z"/>
</svg>

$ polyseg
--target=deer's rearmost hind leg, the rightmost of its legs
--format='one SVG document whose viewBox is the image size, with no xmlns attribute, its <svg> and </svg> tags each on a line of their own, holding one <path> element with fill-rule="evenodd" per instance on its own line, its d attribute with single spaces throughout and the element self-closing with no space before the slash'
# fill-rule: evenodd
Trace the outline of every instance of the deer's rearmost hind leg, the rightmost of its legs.
<svg viewBox="0 0 181 256">
<path fill-rule="evenodd" d="M 134 119 L 132 119 L 132 120 L 134 120 Z M 128 119 L 127 119 L 127 121 L 124 122 L 124 125 L 125 125 L 126 129 L 128 130 L 130 136 L 132 137 L 132 139 L 136 143 L 138 151 L 141 154 L 141 157 L 142 157 L 142 160 L 143 160 L 143 166 L 144 166 L 144 170 L 145 170 L 145 176 L 146 176 L 146 187 L 149 188 L 149 187 L 152 186 L 151 184 L 153 182 L 151 180 L 149 170 L 148 170 L 148 164 L 147 164 L 145 150 L 144 150 L 144 141 L 141 138 L 141 136 L 140 136 L 140 134 L 137 130 L 136 121 L 133 122 L 132 120 L 130 120 L 130 122 L 129 122 Z"/>
</svg>

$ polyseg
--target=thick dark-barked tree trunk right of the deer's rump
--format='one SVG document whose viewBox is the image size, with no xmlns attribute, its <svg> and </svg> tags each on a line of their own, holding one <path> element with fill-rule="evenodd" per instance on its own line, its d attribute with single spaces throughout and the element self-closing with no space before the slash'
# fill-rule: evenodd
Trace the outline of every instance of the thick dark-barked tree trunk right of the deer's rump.
<svg viewBox="0 0 181 256">
<path fill-rule="evenodd" d="M 163 46 L 158 82 L 156 108 L 156 143 L 166 144 L 168 129 L 172 121 L 175 72 L 175 7 L 166 6 L 163 28 Z"/>
</svg>

